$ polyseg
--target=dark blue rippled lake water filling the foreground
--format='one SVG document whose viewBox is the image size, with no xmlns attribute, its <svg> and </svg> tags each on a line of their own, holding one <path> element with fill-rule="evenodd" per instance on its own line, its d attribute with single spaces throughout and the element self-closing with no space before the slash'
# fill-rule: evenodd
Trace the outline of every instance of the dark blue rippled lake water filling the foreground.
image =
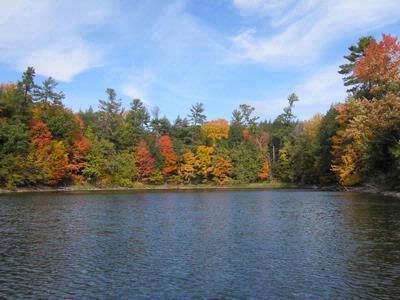
<svg viewBox="0 0 400 300">
<path fill-rule="evenodd" d="M 400 201 L 309 191 L 0 196 L 0 298 L 400 297 Z"/>
</svg>

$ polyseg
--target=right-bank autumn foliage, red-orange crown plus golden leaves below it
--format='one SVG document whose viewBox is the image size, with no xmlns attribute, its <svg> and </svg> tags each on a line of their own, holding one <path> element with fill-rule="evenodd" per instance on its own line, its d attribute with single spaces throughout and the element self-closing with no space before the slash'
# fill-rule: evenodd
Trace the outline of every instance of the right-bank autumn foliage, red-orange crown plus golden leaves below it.
<svg viewBox="0 0 400 300">
<path fill-rule="evenodd" d="M 356 63 L 354 74 L 369 84 L 374 98 L 349 99 L 336 106 L 339 128 L 332 137 L 332 170 L 343 185 L 360 183 L 378 166 L 386 172 L 393 168 L 386 161 L 395 159 L 390 149 L 399 138 L 400 99 L 396 93 L 400 90 L 400 43 L 397 38 L 383 35 L 379 43 L 372 39 L 365 56 Z"/>
</svg>

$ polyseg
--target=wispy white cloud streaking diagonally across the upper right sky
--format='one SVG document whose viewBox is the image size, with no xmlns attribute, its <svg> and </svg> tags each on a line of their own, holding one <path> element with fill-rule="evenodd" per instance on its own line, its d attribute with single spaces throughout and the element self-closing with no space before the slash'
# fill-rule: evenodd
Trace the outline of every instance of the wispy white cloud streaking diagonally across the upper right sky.
<svg viewBox="0 0 400 300">
<path fill-rule="evenodd" d="M 268 65 L 308 64 L 344 34 L 358 35 L 399 21 L 399 11 L 398 0 L 298 1 L 272 23 L 279 25 L 278 33 L 260 36 L 247 30 L 235 36 L 234 59 Z"/>
</svg>

